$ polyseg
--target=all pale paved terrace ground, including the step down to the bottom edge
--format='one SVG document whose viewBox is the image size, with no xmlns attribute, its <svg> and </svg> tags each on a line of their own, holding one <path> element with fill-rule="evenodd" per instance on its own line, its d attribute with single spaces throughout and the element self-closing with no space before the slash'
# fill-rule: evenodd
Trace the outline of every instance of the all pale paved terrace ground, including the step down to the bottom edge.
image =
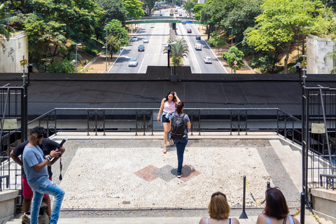
<svg viewBox="0 0 336 224">
<path fill-rule="evenodd" d="M 293 167 L 281 161 L 280 137 L 273 132 L 247 136 L 202 132 L 201 136 L 190 136 L 181 179 L 176 178 L 176 148 L 168 146 L 167 154 L 162 153 L 160 132 L 153 136 L 59 132 L 51 139 L 62 141 L 65 136 L 69 140 L 64 144 L 62 181 L 58 179 L 59 162 L 52 167 L 53 181 L 66 192 L 59 224 L 196 224 L 209 216 L 207 206 L 216 191 L 227 195 L 231 216 L 238 218 L 243 176 L 258 202 L 264 200 L 266 182 L 270 181 L 271 186 L 281 188 L 290 214 L 300 207 L 295 177 L 287 172 Z M 263 207 L 246 189 L 248 219 L 239 222 L 255 223 Z M 306 211 L 306 223 L 316 224 L 309 216 Z M 8 224 L 19 224 L 20 215 L 16 218 Z"/>
</svg>

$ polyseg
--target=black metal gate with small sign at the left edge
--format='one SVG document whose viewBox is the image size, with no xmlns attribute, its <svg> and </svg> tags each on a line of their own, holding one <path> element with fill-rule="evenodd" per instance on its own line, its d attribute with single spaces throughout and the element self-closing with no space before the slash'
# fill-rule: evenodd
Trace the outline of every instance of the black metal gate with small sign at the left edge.
<svg viewBox="0 0 336 224">
<path fill-rule="evenodd" d="M 10 151 L 27 140 L 27 84 L 0 87 L 0 118 L 0 191 L 20 190 L 21 167 L 10 165 Z"/>
</svg>

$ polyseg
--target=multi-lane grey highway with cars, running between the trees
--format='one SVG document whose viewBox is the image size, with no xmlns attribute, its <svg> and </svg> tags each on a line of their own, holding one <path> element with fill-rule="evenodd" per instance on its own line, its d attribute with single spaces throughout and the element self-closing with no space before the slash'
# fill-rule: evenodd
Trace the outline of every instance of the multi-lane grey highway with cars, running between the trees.
<svg viewBox="0 0 336 224">
<path fill-rule="evenodd" d="M 161 10 L 163 16 L 169 16 L 169 10 Z M 179 8 L 179 13 L 182 16 L 186 16 L 185 10 Z M 174 17 L 179 17 L 178 14 L 174 14 Z M 154 14 L 159 16 L 160 11 Z M 167 66 L 167 54 L 163 54 L 164 45 L 169 38 L 170 24 L 168 23 L 156 23 L 155 27 L 151 28 L 151 24 L 141 24 L 141 27 L 137 30 L 134 36 L 138 37 L 138 41 L 130 41 L 130 44 L 123 48 L 123 52 L 116 60 L 116 63 L 110 69 L 110 73 L 146 73 L 147 66 Z M 200 35 L 197 27 L 198 25 L 181 23 L 176 24 L 178 28 L 176 33 L 179 38 L 186 39 L 189 46 L 188 58 L 183 59 L 185 66 L 190 66 L 193 73 L 228 73 L 225 68 L 218 62 L 216 55 L 212 52 L 209 45 L 203 37 L 201 40 L 196 40 L 195 36 Z M 191 34 L 187 34 L 187 29 L 192 29 Z M 149 39 L 149 43 L 144 43 L 144 38 Z M 202 50 L 195 50 L 194 45 L 196 43 L 202 44 Z M 144 45 L 144 52 L 138 51 L 138 46 Z M 209 56 L 212 58 L 212 64 L 204 64 L 203 57 Z M 128 62 L 131 57 L 136 57 L 138 60 L 138 66 L 128 66 Z"/>
</svg>

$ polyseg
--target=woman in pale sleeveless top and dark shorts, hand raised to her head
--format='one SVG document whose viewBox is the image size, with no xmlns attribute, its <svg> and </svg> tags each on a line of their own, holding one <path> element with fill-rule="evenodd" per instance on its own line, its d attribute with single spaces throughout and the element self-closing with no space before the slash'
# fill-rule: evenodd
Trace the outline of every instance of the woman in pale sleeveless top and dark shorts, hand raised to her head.
<svg viewBox="0 0 336 224">
<path fill-rule="evenodd" d="M 175 105 L 179 103 L 180 99 L 177 97 L 176 92 L 170 91 L 167 94 L 167 97 L 163 98 L 161 101 L 160 111 L 158 114 L 158 121 L 162 121 L 163 130 L 165 133 L 163 134 L 163 153 L 167 153 L 167 134 L 170 131 L 170 118 L 172 117 L 172 113 L 175 112 Z M 161 116 L 162 113 L 162 116 Z M 171 146 L 174 146 L 174 142 L 171 139 Z"/>
</svg>

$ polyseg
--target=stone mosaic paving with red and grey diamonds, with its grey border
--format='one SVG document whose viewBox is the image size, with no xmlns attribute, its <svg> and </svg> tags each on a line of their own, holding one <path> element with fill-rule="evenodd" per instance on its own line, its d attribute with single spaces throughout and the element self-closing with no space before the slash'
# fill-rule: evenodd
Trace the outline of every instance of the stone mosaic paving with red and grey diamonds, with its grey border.
<svg viewBox="0 0 336 224">
<path fill-rule="evenodd" d="M 62 139 L 62 137 L 57 137 Z M 94 138 L 94 137 L 93 137 Z M 300 193 L 267 139 L 190 139 L 176 178 L 176 148 L 162 153 L 159 139 L 68 140 L 54 179 L 66 195 L 63 211 L 86 209 L 206 209 L 216 191 L 241 208 L 243 176 L 255 200 L 265 197 L 267 181 L 279 186 L 290 207 Z M 246 207 L 259 207 L 246 189 Z"/>
</svg>

